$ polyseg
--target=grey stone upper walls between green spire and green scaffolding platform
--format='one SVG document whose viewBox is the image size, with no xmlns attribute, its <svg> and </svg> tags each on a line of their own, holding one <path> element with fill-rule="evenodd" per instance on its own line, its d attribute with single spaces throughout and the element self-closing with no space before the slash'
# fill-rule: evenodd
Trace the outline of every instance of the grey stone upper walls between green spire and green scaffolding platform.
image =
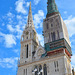
<svg viewBox="0 0 75 75">
<path fill-rule="evenodd" d="M 43 22 L 44 43 L 52 42 L 51 37 L 52 32 L 55 32 L 56 40 L 65 38 L 70 45 L 67 27 L 64 21 L 62 20 L 60 14 L 56 14 L 44 19 Z"/>
</svg>

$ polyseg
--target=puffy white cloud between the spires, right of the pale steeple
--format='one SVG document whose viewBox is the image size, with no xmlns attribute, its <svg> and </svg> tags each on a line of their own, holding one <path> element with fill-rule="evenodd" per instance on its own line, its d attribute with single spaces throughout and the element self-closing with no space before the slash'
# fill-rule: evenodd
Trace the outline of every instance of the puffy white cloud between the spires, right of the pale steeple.
<svg viewBox="0 0 75 75">
<path fill-rule="evenodd" d="M 42 10 L 39 10 L 38 14 L 34 15 L 34 25 L 36 28 L 42 27 L 43 19 L 44 19 L 44 12 Z"/>
</svg>

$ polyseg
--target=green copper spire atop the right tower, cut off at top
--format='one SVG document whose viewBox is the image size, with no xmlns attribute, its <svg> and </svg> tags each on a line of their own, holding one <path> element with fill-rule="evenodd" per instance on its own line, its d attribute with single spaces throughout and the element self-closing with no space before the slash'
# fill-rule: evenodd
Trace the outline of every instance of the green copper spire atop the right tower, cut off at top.
<svg viewBox="0 0 75 75">
<path fill-rule="evenodd" d="M 55 0 L 48 0 L 47 4 L 48 5 L 47 5 L 47 16 L 46 17 L 59 13 Z"/>
</svg>

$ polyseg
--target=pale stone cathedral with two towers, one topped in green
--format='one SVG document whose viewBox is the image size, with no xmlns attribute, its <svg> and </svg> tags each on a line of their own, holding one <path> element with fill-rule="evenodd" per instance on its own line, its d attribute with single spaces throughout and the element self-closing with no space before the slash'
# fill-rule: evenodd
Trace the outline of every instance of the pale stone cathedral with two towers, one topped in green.
<svg viewBox="0 0 75 75">
<path fill-rule="evenodd" d="M 71 44 L 67 27 L 55 0 L 47 1 L 43 20 L 44 47 L 39 43 L 33 23 L 31 2 L 27 24 L 21 36 L 17 75 L 72 75 Z"/>
</svg>

